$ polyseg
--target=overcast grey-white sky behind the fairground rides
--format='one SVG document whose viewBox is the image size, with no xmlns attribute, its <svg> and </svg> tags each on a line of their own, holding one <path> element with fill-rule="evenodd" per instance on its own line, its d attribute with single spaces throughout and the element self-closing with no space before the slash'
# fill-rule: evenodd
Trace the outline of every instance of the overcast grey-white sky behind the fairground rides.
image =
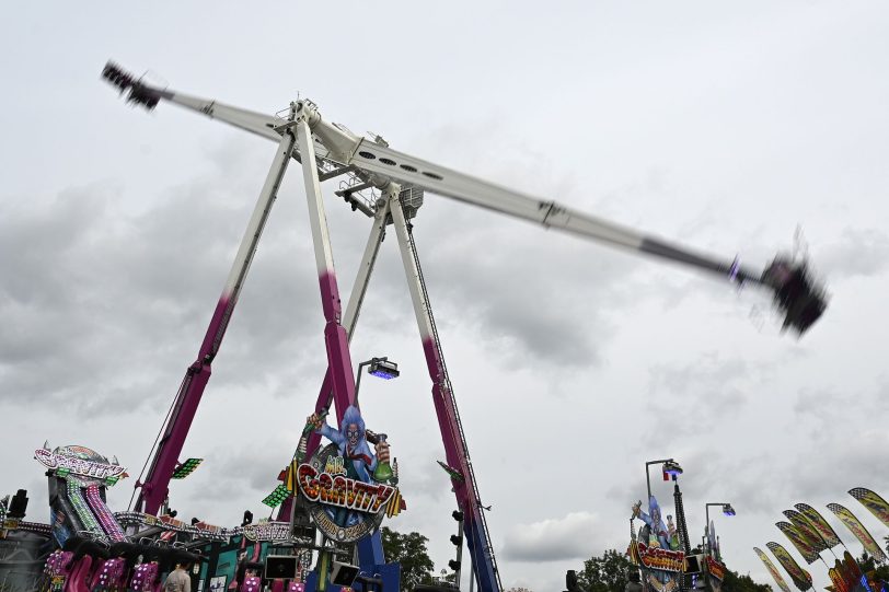
<svg viewBox="0 0 889 592">
<path fill-rule="evenodd" d="M 266 113 L 299 93 L 399 150 L 755 267 L 808 253 L 831 303 L 797 340 L 764 293 L 427 195 L 416 241 L 505 587 L 562 590 L 623 549 L 644 463 L 668 456 L 692 537 L 707 501 L 732 502 L 725 558 L 760 582 L 751 547 L 784 544 L 773 523 L 795 502 L 843 503 L 881 539 L 845 491 L 889 495 L 887 27 L 881 1 L 8 7 L 0 492 L 27 488 L 46 520 L 46 439 L 139 473 L 274 153 L 127 107 L 100 81 L 113 58 Z M 172 490 L 186 518 L 263 513 L 326 365 L 290 171 L 186 442 L 206 458 Z M 337 198 L 327 216 L 345 298 L 369 220 Z M 428 536 L 440 569 L 453 499 L 393 237 L 353 340 L 354 360 L 380 355 L 403 371 L 361 394 L 401 467 L 392 526 Z"/>
</svg>

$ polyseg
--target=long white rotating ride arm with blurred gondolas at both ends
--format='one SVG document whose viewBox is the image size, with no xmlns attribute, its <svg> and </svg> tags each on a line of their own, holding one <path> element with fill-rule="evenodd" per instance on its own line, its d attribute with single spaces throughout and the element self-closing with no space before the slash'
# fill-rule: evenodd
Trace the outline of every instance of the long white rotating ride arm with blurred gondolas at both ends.
<svg viewBox="0 0 889 592">
<path fill-rule="evenodd" d="M 277 117 L 150 86 L 111 62 L 105 67 L 103 76 L 122 92 L 128 91 L 128 101 L 149 109 L 157 106 L 161 100 L 165 100 L 265 138 L 279 139 L 278 126 L 281 119 Z M 526 195 L 371 142 L 355 136 L 342 126 L 325 121 L 310 102 L 302 103 L 312 112 L 308 121 L 318 156 L 355 172 L 372 186 L 385 188 L 394 181 L 404 186 L 423 187 L 435 194 L 507 213 L 545 228 L 559 229 L 611 246 L 690 265 L 720 275 L 739 285 L 763 286 L 773 291 L 775 304 L 784 314 L 784 326 L 793 327 L 800 334 L 820 317 L 827 305 L 823 289 L 816 286 L 805 264 L 775 257 L 762 272 L 758 272 L 740 266 L 737 260 L 721 260 L 698 254 L 633 229 L 573 210 L 551 199 Z M 299 158 L 299 154 L 295 153 L 295 158 Z"/>
</svg>

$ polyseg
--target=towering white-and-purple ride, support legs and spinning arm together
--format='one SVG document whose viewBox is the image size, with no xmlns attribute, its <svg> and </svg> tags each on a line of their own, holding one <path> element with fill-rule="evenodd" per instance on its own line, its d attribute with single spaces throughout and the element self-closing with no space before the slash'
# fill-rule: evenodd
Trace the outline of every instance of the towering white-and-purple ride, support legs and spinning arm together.
<svg viewBox="0 0 889 592">
<path fill-rule="evenodd" d="M 385 228 L 392 224 L 432 381 L 432 398 L 447 465 L 451 469 L 453 491 L 458 507 L 465 513 L 466 543 L 474 579 L 482 592 L 501 590 L 499 573 L 409 223 L 417 214 L 426 191 L 614 247 L 682 263 L 737 285 L 765 288 L 774 294 L 775 306 L 784 316 L 784 327 L 799 334 L 805 333 L 826 307 L 824 292 L 816 286 L 805 263 L 775 257 L 762 272 L 758 272 L 740 265 L 737 259 L 723 260 L 695 253 L 573 210 L 552 199 L 526 195 L 393 150 L 380 137 L 368 139 L 356 136 L 345 126 L 324 119 L 318 106 L 305 98 L 292 102 L 278 115 L 265 115 L 149 84 L 113 62 L 106 65 L 103 78 L 122 94 L 126 93 L 127 101 L 135 105 L 153 109 L 162 101 L 174 103 L 278 144 L 197 359 L 186 371 L 151 455 L 148 472 L 137 480 L 138 498 L 134 510 L 155 514 L 168 498 L 169 483 L 181 465 L 180 454 L 210 378 L 211 364 L 291 160 L 302 167 L 326 323 L 324 341 L 328 367 L 315 403 L 315 413 L 325 413 L 333 404 L 339 422 L 346 408 L 356 403 L 349 337 L 355 330 Z M 367 247 L 345 312 L 340 306 L 321 193 L 321 183 L 335 178 L 339 179 L 336 195 L 345 199 L 353 210 L 371 219 Z M 318 443 L 319 437 L 313 434 L 309 441 L 309 454 Z M 290 511 L 291 504 L 282 506 L 282 513 Z M 287 519 L 286 515 L 284 518 Z M 383 564 L 379 533 L 359 542 L 358 547 L 362 569 L 372 572 L 374 566 Z"/>
</svg>

